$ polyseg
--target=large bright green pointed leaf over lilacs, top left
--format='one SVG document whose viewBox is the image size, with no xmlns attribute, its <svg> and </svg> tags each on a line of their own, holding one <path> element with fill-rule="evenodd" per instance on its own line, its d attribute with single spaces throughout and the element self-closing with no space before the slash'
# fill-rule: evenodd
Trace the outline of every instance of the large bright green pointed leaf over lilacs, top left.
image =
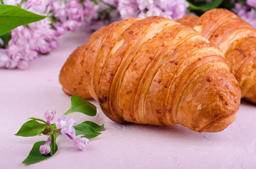
<svg viewBox="0 0 256 169">
<path fill-rule="evenodd" d="M 18 26 L 36 22 L 46 17 L 26 11 L 18 6 L 0 4 L 0 35 L 6 34 Z"/>
</svg>

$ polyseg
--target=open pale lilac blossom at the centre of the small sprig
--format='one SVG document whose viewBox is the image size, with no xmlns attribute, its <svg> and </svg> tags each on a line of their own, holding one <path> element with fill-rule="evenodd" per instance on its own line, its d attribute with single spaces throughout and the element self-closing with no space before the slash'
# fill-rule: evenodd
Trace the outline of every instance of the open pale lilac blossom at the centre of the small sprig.
<svg viewBox="0 0 256 169">
<path fill-rule="evenodd" d="M 61 118 L 58 118 L 56 127 L 57 129 L 61 129 L 61 134 L 68 133 L 71 135 L 75 134 L 75 126 L 77 121 L 73 120 L 72 118 L 68 118 L 65 115 L 62 115 Z"/>
</svg>

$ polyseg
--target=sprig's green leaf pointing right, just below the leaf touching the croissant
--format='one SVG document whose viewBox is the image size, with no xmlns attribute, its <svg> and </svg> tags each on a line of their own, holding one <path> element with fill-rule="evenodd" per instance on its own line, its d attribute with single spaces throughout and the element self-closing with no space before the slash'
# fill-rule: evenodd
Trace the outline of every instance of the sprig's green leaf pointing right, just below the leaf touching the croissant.
<svg viewBox="0 0 256 169">
<path fill-rule="evenodd" d="M 76 129 L 76 135 L 85 135 L 84 137 L 88 139 L 97 137 L 101 134 L 99 132 L 96 132 L 91 126 L 86 123 L 80 123 L 74 126 L 74 128 Z"/>
</svg>

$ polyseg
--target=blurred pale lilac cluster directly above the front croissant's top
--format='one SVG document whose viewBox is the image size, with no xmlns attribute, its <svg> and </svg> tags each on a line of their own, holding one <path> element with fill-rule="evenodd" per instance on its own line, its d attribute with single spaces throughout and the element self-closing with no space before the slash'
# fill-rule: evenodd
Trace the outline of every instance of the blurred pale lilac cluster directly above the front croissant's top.
<svg viewBox="0 0 256 169">
<path fill-rule="evenodd" d="M 183 17 L 189 4 L 186 0 L 119 0 L 121 18 L 163 16 L 172 20 Z"/>
</svg>

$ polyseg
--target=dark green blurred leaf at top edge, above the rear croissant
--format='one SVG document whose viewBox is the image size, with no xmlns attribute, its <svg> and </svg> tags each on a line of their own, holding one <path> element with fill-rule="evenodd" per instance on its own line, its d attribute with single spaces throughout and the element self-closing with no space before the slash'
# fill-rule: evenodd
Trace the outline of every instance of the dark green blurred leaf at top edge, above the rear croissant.
<svg viewBox="0 0 256 169">
<path fill-rule="evenodd" d="M 192 4 L 188 0 L 187 0 L 187 2 L 189 3 L 189 8 L 188 8 L 189 10 L 209 11 L 210 9 L 218 8 L 218 6 L 221 5 L 223 0 L 212 0 L 212 2 L 210 2 L 210 3 L 204 3 L 204 4 L 198 5 L 198 6 Z"/>
</svg>

